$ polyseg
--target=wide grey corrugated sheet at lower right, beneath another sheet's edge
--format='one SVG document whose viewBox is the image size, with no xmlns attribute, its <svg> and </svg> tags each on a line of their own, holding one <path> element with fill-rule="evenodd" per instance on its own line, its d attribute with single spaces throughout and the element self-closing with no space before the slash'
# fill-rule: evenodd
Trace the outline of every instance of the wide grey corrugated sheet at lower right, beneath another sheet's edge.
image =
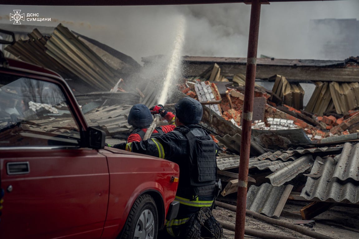
<svg viewBox="0 0 359 239">
<path fill-rule="evenodd" d="M 349 163 L 352 154 L 354 154 L 354 152 L 342 157 Z M 355 160 L 358 159 L 356 158 Z M 303 188 L 300 196 L 307 200 L 316 198 L 320 201 L 332 199 L 336 202 L 359 202 L 359 182 L 352 179 L 342 181 L 334 177 L 334 172 L 337 167 L 340 167 L 340 165 L 338 165 L 334 158 L 317 157 L 311 174 L 319 175 L 319 178 L 308 177 L 306 186 Z M 358 169 L 353 168 L 353 170 Z"/>
</svg>

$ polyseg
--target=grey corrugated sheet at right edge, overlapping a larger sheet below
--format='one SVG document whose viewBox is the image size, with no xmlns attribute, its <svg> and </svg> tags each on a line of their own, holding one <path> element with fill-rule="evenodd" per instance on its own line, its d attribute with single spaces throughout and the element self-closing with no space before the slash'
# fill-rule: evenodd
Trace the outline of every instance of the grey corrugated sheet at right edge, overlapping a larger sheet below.
<svg viewBox="0 0 359 239">
<path fill-rule="evenodd" d="M 333 177 L 343 181 L 348 178 L 359 181 L 359 143 L 354 145 L 349 142 L 345 143 L 341 154 L 334 159 L 338 163 Z"/>
</svg>

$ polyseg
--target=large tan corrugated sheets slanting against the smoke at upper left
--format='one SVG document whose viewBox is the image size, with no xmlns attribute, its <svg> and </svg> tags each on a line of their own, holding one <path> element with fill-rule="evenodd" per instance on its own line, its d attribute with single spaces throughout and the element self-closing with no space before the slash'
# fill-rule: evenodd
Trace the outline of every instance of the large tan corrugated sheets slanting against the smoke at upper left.
<svg viewBox="0 0 359 239">
<path fill-rule="evenodd" d="M 69 29 L 59 24 L 51 37 L 35 29 L 30 40 L 19 40 L 6 51 L 60 73 L 64 78 L 78 77 L 101 91 L 110 90 L 120 79 L 118 72 L 103 61 Z"/>
</svg>

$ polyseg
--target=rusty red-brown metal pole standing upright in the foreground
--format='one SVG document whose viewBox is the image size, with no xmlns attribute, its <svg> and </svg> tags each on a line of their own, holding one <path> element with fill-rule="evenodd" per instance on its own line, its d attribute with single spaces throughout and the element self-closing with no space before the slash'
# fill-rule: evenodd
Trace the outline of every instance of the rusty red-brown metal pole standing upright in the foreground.
<svg viewBox="0 0 359 239">
<path fill-rule="evenodd" d="M 248 37 L 246 86 L 244 88 L 244 103 L 242 115 L 242 141 L 239 157 L 236 231 L 234 239 L 244 239 L 244 224 L 246 222 L 246 200 L 248 184 L 248 163 L 251 148 L 252 114 L 254 99 L 254 84 L 256 79 L 257 47 L 261 0 L 252 0 L 251 21 Z"/>
</svg>

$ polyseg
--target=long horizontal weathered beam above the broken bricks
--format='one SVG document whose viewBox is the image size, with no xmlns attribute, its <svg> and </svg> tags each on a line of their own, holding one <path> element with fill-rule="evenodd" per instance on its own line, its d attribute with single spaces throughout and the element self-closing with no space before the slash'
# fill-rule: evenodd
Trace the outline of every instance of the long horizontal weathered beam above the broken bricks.
<svg viewBox="0 0 359 239">
<path fill-rule="evenodd" d="M 246 60 L 247 58 L 183 57 L 183 65 L 186 76 L 199 76 L 216 63 L 221 69 L 221 75 L 230 78 L 236 74 L 246 74 Z M 344 60 L 257 59 L 257 79 L 267 79 L 274 75 L 299 82 L 359 82 L 359 68 L 346 67 Z"/>
</svg>

